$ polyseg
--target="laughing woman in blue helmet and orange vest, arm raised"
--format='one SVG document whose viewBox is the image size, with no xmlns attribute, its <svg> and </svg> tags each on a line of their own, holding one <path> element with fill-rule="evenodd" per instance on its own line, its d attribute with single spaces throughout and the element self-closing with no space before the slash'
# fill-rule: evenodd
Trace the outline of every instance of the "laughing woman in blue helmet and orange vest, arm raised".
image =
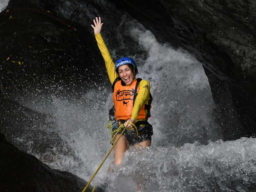
<svg viewBox="0 0 256 192">
<path fill-rule="evenodd" d="M 124 127 L 128 125 L 124 135 L 120 137 L 114 147 L 114 164 L 120 166 L 125 151 L 129 149 L 129 145 L 132 145 L 136 149 L 140 146 L 143 148 L 151 146 L 153 129 L 147 121 L 150 117 L 150 104 L 152 101 L 150 84 L 146 80 L 135 78 L 138 70 L 132 58 L 122 57 L 116 61 L 116 64 L 113 62 L 110 52 L 100 34 L 103 25 L 100 17 L 99 19 L 96 17 L 96 21 L 93 20 L 93 22 L 94 25 L 91 26 L 94 29 L 95 38 L 101 55 L 104 58 L 108 77 L 113 88 L 115 122 L 118 125 L 124 124 Z M 129 123 L 136 125 L 138 136 L 136 130 Z M 113 128 L 115 129 L 117 127 Z M 115 135 L 113 142 L 117 140 L 119 134 Z"/>
</svg>

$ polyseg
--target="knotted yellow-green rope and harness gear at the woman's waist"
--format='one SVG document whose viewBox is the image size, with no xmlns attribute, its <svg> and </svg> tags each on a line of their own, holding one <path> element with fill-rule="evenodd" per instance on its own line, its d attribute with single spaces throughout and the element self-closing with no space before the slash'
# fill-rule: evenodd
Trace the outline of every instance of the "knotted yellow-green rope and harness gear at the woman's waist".
<svg viewBox="0 0 256 192">
<path fill-rule="evenodd" d="M 116 135 L 122 131 L 122 129 L 124 129 L 124 124 L 119 124 L 119 121 L 111 121 L 109 120 L 107 123 L 107 128 L 110 129 L 110 135 L 111 135 L 111 140 L 110 140 L 110 144 L 113 143 L 114 138 L 116 137 Z M 139 132 L 136 126 L 134 126 L 135 130 L 136 130 L 136 134 L 137 137 L 139 137 Z M 128 128 L 128 130 L 133 131 L 134 128 Z"/>
</svg>

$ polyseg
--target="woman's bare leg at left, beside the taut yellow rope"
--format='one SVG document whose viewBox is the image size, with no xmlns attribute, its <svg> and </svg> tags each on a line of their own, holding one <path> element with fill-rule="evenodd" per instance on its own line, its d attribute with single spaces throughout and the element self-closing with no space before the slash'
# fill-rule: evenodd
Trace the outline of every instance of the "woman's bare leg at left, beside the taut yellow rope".
<svg viewBox="0 0 256 192">
<path fill-rule="evenodd" d="M 114 143 L 116 142 L 119 134 L 114 138 Z M 120 137 L 116 146 L 114 147 L 114 164 L 121 166 L 124 158 L 124 153 L 129 149 L 129 143 L 126 137 L 123 135 Z"/>
</svg>

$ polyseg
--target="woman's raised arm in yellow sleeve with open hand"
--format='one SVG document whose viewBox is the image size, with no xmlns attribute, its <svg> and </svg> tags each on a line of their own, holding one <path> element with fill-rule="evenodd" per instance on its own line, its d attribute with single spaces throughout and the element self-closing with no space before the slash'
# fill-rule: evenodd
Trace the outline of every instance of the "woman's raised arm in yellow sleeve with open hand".
<svg viewBox="0 0 256 192">
<path fill-rule="evenodd" d="M 100 17 L 99 17 L 99 19 L 96 17 L 96 21 L 94 19 L 93 22 L 94 22 L 94 25 L 91 25 L 91 26 L 94 29 L 94 34 L 95 34 L 95 38 L 96 38 L 98 47 L 100 49 L 100 53 L 105 61 L 105 66 L 106 66 L 106 69 L 108 72 L 108 78 L 109 78 L 111 84 L 113 84 L 113 82 L 115 81 L 115 79 L 118 75 L 116 74 L 116 71 L 115 71 L 115 63 L 113 62 L 111 54 L 108 51 L 108 48 L 100 34 L 101 27 L 102 27 L 103 23 L 101 23 Z"/>
</svg>

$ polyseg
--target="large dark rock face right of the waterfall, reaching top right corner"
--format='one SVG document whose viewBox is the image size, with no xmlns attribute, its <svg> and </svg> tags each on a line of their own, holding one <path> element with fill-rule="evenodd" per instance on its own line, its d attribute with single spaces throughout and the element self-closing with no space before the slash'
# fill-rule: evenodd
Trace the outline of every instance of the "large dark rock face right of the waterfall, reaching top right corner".
<svg viewBox="0 0 256 192">
<path fill-rule="evenodd" d="M 255 1 L 112 2 L 202 62 L 225 140 L 255 135 Z"/>
</svg>

